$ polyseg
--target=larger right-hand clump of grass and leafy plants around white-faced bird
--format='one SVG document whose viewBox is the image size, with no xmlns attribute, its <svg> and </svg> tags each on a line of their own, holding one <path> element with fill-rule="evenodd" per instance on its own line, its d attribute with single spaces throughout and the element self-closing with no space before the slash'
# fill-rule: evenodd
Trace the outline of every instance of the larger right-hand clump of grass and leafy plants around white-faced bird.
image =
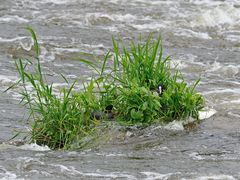
<svg viewBox="0 0 240 180">
<path fill-rule="evenodd" d="M 101 76 L 107 84 L 103 96 L 107 94 L 105 101 L 114 105 L 118 120 L 150 124 L 198 118 L 204 106 L 202 95 L 195 92 L 199 80 L 187 86 L 182 74 L 170 67 L 170 57 L 163 57 L 160 37 L 154 41 L 150 35 L 146 42 L 132 42 L 130 50 L 112 41 L 113 67 L 106 66 L 110 59 L 106 58 Z"/>
</svg>

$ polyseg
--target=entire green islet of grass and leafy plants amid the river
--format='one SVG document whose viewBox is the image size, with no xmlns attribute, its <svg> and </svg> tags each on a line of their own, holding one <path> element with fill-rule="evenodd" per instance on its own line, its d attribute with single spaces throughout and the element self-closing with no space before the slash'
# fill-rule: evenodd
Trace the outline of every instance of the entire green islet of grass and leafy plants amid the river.
<svg viewBox="0 0 240 180">
<path fill-rule="evenodd" d="M 83 90 L 73 91 L 74 82 L 55 95 L 42 73 L 36 35 L 28 30 L 36 56 L 32 61 L 18 59 L 16 67 L 18 84 L 23 87 L 21 102 L 30 110 L 31 140 L 37 144 L 68 149 L 91 135 L 99 120 L 150 125 L 198 119 L 204 106 L 203 96 L 195 92 L 199 80 L 188 86 L 181 73 L 170 67 L 170 57 L 163 57 L 160 37 L 155 41 L 150 35 L 145 42 L 132 42 L 127 47 L 113 38 L 113 52 L 107 53 L 100 68 L 80 59 L 98 74 L 84 83 Z"/>
</svg>

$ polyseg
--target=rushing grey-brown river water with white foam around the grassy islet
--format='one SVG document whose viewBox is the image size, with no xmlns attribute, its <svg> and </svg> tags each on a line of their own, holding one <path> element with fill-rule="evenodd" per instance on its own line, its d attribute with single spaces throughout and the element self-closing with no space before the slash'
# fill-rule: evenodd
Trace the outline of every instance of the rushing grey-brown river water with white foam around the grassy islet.
<svg viewBox="0 0 240 180">
<path fill-rule="evenodd" d="M 161 34 L 165 54 L 189 83 L 201 77 L 198 91 L 217 113 L 190 131 L 118 127 L 104 145 L 55 152 L 7 142 L 27 128 L 27 111 L 17 90 L 1 93 L 1 179 L 240 179 L 239 0 L 0 0 L 1 91 L 18 78 L 13 59 L 32 48 L 28 25 L 56 87 L 59 73 L 88 77 L 73 57 L 101 57 L 112 35 Z"/>
</svg>

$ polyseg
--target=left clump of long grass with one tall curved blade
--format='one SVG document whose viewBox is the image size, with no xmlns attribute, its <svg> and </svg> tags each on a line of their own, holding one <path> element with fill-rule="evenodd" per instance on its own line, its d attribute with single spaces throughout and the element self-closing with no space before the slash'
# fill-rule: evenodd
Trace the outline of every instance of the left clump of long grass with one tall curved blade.
<svg viewBox="0 0 240 180">
<path fill-rule="evenodd" d="M 36 56 L 32 61 L 19 59 L 16 67 L 20 74 L 18 83 L 23 87 L 21 102 L 29 108 L 33 120 L 31 140 L 52 149 L 67 149 L 77 137 L 89 135 L 95 128 L 96 122 L 89 115 L 97 106 L 92 93 L 93 82 L 86 86 L 85 91 L 75 94 L 74 82 L 69 89 L 62 88 L 60 95 L 56 96 L 52 84 L 46 83 L 42 73 L 36 35 L 31 28 L 28 31 L 34 40 Z M 64 76 L 63 78 L 66 80 Z"/>
</svg>

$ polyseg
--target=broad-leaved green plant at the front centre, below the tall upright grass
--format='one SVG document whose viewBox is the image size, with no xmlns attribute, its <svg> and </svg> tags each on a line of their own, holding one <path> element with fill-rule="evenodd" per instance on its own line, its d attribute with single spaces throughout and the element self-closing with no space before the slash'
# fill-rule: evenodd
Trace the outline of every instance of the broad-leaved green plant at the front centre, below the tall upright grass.
<svg viewBox="0 0 240 180">
<path fill-rule="evenodd" d="M 159 117 L 160 96 L 143 86 L 120 88 L 115 107 L 123 121 L 129 121 L 130 124 L 150 124 Z"/>
</svg>

